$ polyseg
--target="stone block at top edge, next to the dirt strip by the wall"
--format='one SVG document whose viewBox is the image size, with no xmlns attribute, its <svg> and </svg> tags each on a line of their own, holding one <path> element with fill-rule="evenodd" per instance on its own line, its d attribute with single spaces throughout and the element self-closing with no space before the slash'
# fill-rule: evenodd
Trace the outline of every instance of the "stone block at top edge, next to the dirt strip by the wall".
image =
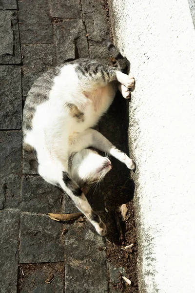
<svg viewBox="0 0 195 293">
<path fill-rule="evenodd" d="M 96 42 L 108 39 L 110 35 L 109 25 L 101 1 L 82 0 L 82 11 L 89 39 Z M 96 45 L 96 43 L 93 42 L 93 45 Z"/>
</svg>

